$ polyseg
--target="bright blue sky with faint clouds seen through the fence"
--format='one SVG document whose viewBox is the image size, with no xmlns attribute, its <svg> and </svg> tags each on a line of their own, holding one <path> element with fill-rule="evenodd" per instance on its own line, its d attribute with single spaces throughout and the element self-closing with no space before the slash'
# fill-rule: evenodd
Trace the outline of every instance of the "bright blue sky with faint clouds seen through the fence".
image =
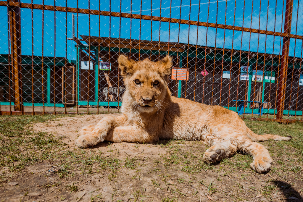
<svg viewBox="0 0 303 202">
<path fill-rule="evenodd" d="M 22 1 L 24 3 L 30 3 L 30 0 Z M 140 0 L 132 0 L 132 13 L 140 14 Z M 208 5 L 208 0 L 201 0 L 200 6 L 200 15 L 198 19 L 198 9 L 199 9 L 199 0 L 191 0 L 191 20 L 199 20 L 201 22 L 207 22 L 207 13 L 209 6 L 209 19 L 208 22 L 216 23 L 216 14 L 217 14 L 217 1 L 210 0 L 210 4 Z M 252 0 L 245 1 L 245 10 L 244 1 L 237 0 L 236 8 L 235 8 L 235 0 L 220 0 L 218 1 L 218 19 L 217 23 L 225 24 L 225 4 L 227 3 L 226 9 L 226 24 L 233 25 L 235 18 L 235 26 L 244 27 L 252 27 L 258 29 L 265 30 L 266 29 L 266 18 L 268 15 L 268 23 L 267 29 L 270 31 L 278 31 L 283 32 L 284 26 L 284 15 L 282 14 L 282 3 L 283 0 L 277 1 L 277 11 L 275 12 L 275 1 L 270 0 L 268 5 L 268 0 L 254 0 L 252 5 Z M 285 4 L 286 1 L 284 1 Z M 42 0 L 34 1 L 35 4 L 42 4 Z M 68 7 L 77 7 L 75 1 L 68 0 Z M 130 0 L 122 0 L 122 12 L 130 13 Z M 261 11 L 260 11 L 261 4 Z M 45 5 L 54 5 L 54 1 L 45 0 Z M 56 5 L 65 6 L 65 1 L 57 1 Z M 120 12 L 120 1 L 111 0 L 111 8 L 114 12 Z M 190 0 L 182 0 L 181 6 L 181 19 L 189 19 L 189 9 L 190 9 Z M 298 8 L 299 6 L 299 8 Z M 101 10 L 109 11 L 109 0 L 100 1 Z M 170 12 L 170 1 L 162 0 L 161 4 L 161 16 L 169 17 Z M 172 18 L 180 18 L 180 0 L 172 1 L 171 5 L 171 17 Z M 79 8 L 88 8 L 88 1 L 79 0 Z M 99 9 L 98 0 L 90 1 L 91 9 Z M 251 15 L 251 9 L 253 8 L 253 13 Z M 267 12 L 268 8 L 268 12 Z M 150 15 L 151 11 L 151 2 L 150 0 L 142 1 L 142 14 Z M 234 10 L 236 9 L 236 10 Z M 303 13 L 303 3 L 302 0 L 294 0 L 293 7 L 293 15 L 292 15 L 292 26 L 291 33 L 295 34 L 296 31 L 296 22 L 297 22 L 297 9 L 299 10 L 299 14 Z M 243 22 L 243 10 L 244 10 L 244 22 Z M 235 12 L 235 16 L 234 16 Z M 285 13 L 285 5 L 284 5 L 284 13 Z M 276 21 L 275 21 L 276 14 Z M 152 15 L 160 16 L 160 0 L 152 0 Z M 260 21 L 259 21 L 260 17 Z M 30 9 L 22 9 L 21 10 L 21 18 L 22 18 L 22 54 L 23 55 L 31 55 L 32 54 L 32 37 L 31 37 L 31 10 Z M 67 36 L 71 37 L 71 20 L 72 14 L 68 13 L 67 15 Z M 260 22 L 260 23 L 259 23 Z M 275 23 L 276 22 L 276 23 Z M 98 36 L 98 15 L 91 15 L 91 35 Z M 152 39 L 155 41 L 159 40 L 159 22 L 151 22 L 147 20 L 142 20 L 141 28 L 141 39 L 150 40 L 151 34 Z M 8 53 L 8 31 L 7 31 L 7 8 L 0 6 L 0 54 Z M 41 56 L 42 51 L 42 11 L 34 10 L 34 55 Z M 44 18 L 44 55 L 45 56 L 54 56 L 54 12 L 45 11 Z M 56 56 L 64 57 L 65 56 L 65 12 L 56 12 Z M 170 26 L 170 41 L 177 42 L 178 41 L 178 24 L 171 23 Z M 139 20 L 132 20 L 132 39 L 139 39 Z M 169 23 L 161 22 L 161 41 L 168 41 L 169 35 Z M 189 41 L 190 44 L 196 44 L 197 41 L 197 31 L 198 31 L 198 45 L 205 45 L 205 36 L 206 36 L 206 27 L 197 27 L 190 26 L 189 28 Z M 88 35 L 89 26 L 88 26 L 88 15 L 80 14 L 78 16 L 78 34 L 79 35 Z M 232 46 L 232 30 L 226 30 L 225 38 L 224 38 L 224 30 L 217 30 L 217 41 L 215 41 L 215 28 L 208 28 L 208 38 L 207 45 L 208 46 L 216 46 L 222 48 L 223 43 L 225 41 L 225 48 L 231 48 Z M 299 15 L 298 17 L 298 25 L 297 25 L 297 34 L 303 35 L 303 16 Z M 109 17 L 108 16 L 100 16 L 100 36 L 109 36 Z M 130 19 L 122 18 L 121 22 L 121 38 L 129 38 L 130 36 Z M 111 37 L 119 37 L 119 18 L 112 17 L 111 18 Z M 266 52 L 273 52 L 273 36 L 267 36 L 266 42 Z M 280 37 L 275 37 L 275 47 L 274 54 L 279 54 L 280 51 Z M 180 26 L 180 35 L 179 41 L 181 43 L 188 42 L 188 25 Z M 240 49 L 241 43 L 241 31 L 234 32 L 234 49 Z M 68 59 L 75 59 L 75 42 L 68 40 L 67 41 L 67 55 Z M 295 54 L 296 57 L 301 56 L 301 47 L 302 40 L 296 41 L 296 51 L 295 49 L 295 39 L 291 39 L 290 45 L 290 56 Z M 264 52 L 265 51 L 265 35 L 259 35 L 259 49 L 258 47 L 258 34 L 251 34 L 251 51 Z M 249 49 L 249 33 L 243 32 L 243 43 L 242 50 Z"/>
</svg>

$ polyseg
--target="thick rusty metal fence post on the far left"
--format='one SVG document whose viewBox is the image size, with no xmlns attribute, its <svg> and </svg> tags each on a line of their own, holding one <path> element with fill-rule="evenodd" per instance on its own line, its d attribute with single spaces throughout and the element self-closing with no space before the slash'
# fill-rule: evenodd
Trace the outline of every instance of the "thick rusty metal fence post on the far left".
<svg viewBox="0 0 303 202">
<path fill-rule="evenodd" d="M 20 0 L 13 0 L 13 2 L 20 3 Z M 23 112 L 23 101 L 22 101 L 22 65 L 21 65 L 21 16 L 20 7 L 18 6 L 8 6 L 8 16 L 9 16 L 9 32 L 10 32 L 10 42 L 12 50 L 12 80 L 14 89 L 14 111 Z"/>
</svg>

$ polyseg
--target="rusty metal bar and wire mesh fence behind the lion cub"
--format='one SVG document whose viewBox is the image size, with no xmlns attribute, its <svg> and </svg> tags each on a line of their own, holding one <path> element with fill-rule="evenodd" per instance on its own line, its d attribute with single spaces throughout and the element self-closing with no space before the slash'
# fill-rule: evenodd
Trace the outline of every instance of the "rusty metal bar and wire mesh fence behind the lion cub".
<svg viewBox="0 0 303 202">
<path fill-rule="evenodd" d="M 118 56 L 168 54 L 173 96 L 303 118 L 300 0 L 14 0 L 0 10 L 1 114 L 119 111 Z"/>
</svg>

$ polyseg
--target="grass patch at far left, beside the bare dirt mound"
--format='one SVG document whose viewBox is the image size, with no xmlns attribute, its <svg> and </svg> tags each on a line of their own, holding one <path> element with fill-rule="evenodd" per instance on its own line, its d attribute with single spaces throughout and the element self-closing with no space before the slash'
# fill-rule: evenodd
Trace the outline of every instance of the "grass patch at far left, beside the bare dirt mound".
<svg viewBox="0 0 303 202">
<path fill-rule="evenodd" d="M 32 131 L 32 124 L 56 120 L 62 116 L 1 116 L 0 117 L 0 168 L 20 171 L 26 165 L 54 158 L 66 144 L 52 134 Z"/>
</svg>

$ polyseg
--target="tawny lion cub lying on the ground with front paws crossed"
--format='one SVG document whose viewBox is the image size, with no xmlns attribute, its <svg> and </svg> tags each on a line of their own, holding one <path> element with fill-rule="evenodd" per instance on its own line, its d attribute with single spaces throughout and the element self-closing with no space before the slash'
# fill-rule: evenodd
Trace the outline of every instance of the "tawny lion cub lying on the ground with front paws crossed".
<svg viewBox="0 0 303 202">
<path fill-rule="evenodd" d="M 253 170 L 268 171 L 272 159 L 257 141 L 288 141 L 291 137 L 257 135 L 236 112 L 171 96 L 167 85 L 171 66 L 168 55 L 157 62 L 149 59 L 135 62 L 120 55 L 119 68 L 126 87 L 122 114 L 108 115 L 97 125 L 83 127 L 75 145 L 86 148 L 102 141 L 200 140 L 211 146 L 203 156 L 206 163 L 221 161 L 239 150 L 253 156 L 250 164 Z"/>
</svg>

